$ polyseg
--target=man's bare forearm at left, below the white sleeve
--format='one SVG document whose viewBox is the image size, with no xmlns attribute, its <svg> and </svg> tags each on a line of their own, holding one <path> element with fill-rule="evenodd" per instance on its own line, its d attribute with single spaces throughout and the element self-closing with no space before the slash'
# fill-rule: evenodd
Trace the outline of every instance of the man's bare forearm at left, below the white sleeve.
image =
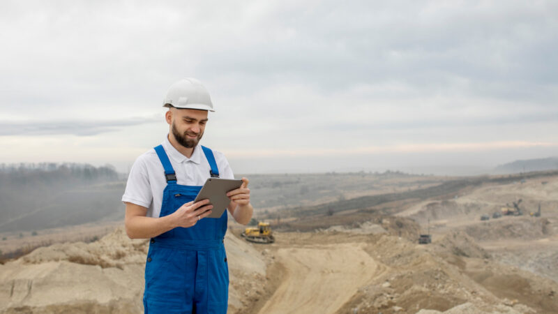
<svg viewBox="0 0 558 314">
<path fill-rule="evenodd" d="M 174 221 L 171 216 L 160 218 L 133 216 L 126 218 L 126 234 L 131 239 L 157 237 L 159 234 L 163 234 L 174 227 Z"/>
</svg>

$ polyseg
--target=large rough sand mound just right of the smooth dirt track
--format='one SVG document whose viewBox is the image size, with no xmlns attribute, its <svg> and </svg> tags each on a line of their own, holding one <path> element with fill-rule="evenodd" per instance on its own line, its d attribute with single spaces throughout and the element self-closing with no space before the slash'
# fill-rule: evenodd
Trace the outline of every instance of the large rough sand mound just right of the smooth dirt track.
<svg viewBox="0 0 558 314">
<path fill-rule="evenodd" d="M 548 297 L 536 297 L 541 291 L 552 294 L 557 287 L 554 283 L 502 268 L 491 259 L 465 257 L 485 255 L 467 234 L 449 234 L 438 244 L 442 246 L 421 246 L 386 234 L 375 236 L 365 251 L 384 270 L 359 287 L 340 313 L 536 313 L 535 305 L 545 311 L 557 305 Z M 454 252 L 455 248 L 459 250 Z M 491 269 L 490 274 L 483 273 L 486 269 Z M 505 283 L 504 278 L 527 285 L 524 289 Z M 502 286 L 511 288 L 500 294 Z"/>
</svg>

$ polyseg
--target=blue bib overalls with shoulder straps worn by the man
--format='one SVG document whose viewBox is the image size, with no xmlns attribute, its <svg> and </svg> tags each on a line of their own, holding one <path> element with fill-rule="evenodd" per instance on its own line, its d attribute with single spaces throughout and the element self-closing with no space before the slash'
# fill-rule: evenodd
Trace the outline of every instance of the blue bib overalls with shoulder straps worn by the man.
<svg viewBox="0 0 558 314">
<path fill-rule="evenodd" d="M 218 177 L 213 151 L 202 149 L 211 166 L 211 177 Z M 202 187 L 176 184 L 165 149 L 159 145 L 155 151 L 167 178 L 160 213 L 163 217 L 193 201 Z M 226 231 L 225 210 L 220 218 L 204 218 L 193 227 L 176 227 L 151 239 L 145 267 L 145 313 L 227 313 Z"/>
</svg>

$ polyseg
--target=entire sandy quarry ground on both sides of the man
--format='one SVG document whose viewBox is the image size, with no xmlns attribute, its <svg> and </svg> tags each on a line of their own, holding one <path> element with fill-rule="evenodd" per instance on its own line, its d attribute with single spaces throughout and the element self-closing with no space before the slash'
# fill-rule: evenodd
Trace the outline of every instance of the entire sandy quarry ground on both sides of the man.
<svg viewBox="0 0 558 314">
<path fill-rule="evenodd" d="M 519 199 L 526 215 L 480 220 Z M 232 225 L 229 313 L 558 313 L 558 177 L 315 219 L 273 244 Z M 418 244 L 428 231 L 432 244 Z M 141 313 L 146 245 L 116 230 L 6 262 L 0 313 Z"/>
</svg>

